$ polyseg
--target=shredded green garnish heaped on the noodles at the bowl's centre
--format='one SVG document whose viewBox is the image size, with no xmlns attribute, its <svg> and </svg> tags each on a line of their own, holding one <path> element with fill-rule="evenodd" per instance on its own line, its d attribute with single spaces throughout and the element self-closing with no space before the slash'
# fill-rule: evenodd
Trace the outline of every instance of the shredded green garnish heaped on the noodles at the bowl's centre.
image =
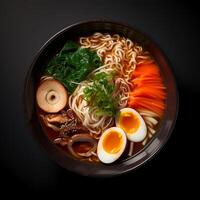
<svg viewBox="0 0 200 200">
<path fill-rule="evenodd" d="M 115 116 L 117 112 L 117 99 L 112 94 L 115 91 L 113 73 L 100 72 L 92 79 L 92 84 L 84 89 L 84 99 L 90 108 L 97 107 L 97 116 Z"/>
</svg>

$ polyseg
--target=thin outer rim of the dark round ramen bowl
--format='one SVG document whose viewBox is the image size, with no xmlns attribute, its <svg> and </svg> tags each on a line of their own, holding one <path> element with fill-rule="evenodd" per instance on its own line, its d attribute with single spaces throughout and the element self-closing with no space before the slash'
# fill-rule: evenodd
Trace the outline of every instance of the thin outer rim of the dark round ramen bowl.
<svg viewBox="0 0 200 200">
<path fill-rule="evenodd" d="M 167 143 L 167 141 L 169 140 L 173 130 L 174 130 L 174 127 L 175 127 L 175 124 L 176 124 L 176 121 L 177 121 L 177 118 L 178 118 L 178 112 L 179 112 L 179 91 L 178 91 L 178 85 L 177 85 L 177 81 L 176 81 L 176 78 L 175 78 L 175 74 L 174 74 L 174 71 L 173 69 L 170 67 L 172 66 L 171 62 L 169 61 L 168 57 L 166 56 L 166 54 L 163 52 L 162 48 L 160 48 L 160 46 L 150 37 L 148 36 L 146 33 L 144 33 L 143 31 L 140 31 L 138 28 L 135 28 L 135 26 L 131 26 L 127 23 L 124 23 L 124 22 L 117 22 L 117 21 L 113 21 L 113 20 L 106 20 L 106 19 L 95 19 L 95 20 L 84 20 L 84 21 L 79 21 L 79 22 L 76 22 L 76 23 L 73 23 L 71 25 L 68 25 L 64 28 L 62 28 L 60 31 L 56 32 L 55 34 L 53 34 L 40 48 L 39 50 L 36 51 L 36 53 L 34 54 L 33 56 L 33 59 L 31 61 L 31 64 L 29 65 L 29 68 L 27 70 L 27 73 L 26 73 L 26 76 L 25 76 L 25 80 L 24 80 L 24 91 L 23 91 L 23 103 L 24 103 L 24 112 L 25 112 L 25 116 L 26 118 L 28 119 L 28 121 L 30 120 L 30 111 L 28 111 L 28 105 L 27 105 L 27 99 L 26 99 L 26 91 L 28 89 L 28 85 L 29 85 L 29 79 L 31 77 L 31 73 L 32 73 L 32 70 L 38 60 L 38 58 L 41 56 L 41 53 L 48 47 L 48 45 L 54 41 L 55 39 L 57 39 L 60 35 L 62 35 L 64 32 L 72 29 L 73 27 L 76 27 L 76 26 L 79 26 L 79 25 L 83 25 L 83 24 L 88 24 L 88 23 L 111 23 L 111 24 L 114 24 L 114 25 L 120 25 L 120 26 L 123 26 L 123 27 L 126 27 L 130 30 L 134 30 L 138 33 L 140 33 L 142 36 L 144 36 L 145 38 L 147 38 L 149 41 L 151 41 L 156 49 L 161 53 L 162 57 L 164 58 L 165 62 L 167 63 L 168 65 L 168 70 L 170 71 L 171 73 L 171 78 L 172 78 L 172 82 L 173 82 L 173 85 L 174 85 L 174 89 L 175 89 L 175 101 L 176 101 L 176 105 L 175 105 L 175 108 L 176 110 L 174 111 L 174 119 L 172 121 L 172 124 L 170 126 L 170 129 L 167 133 L 167 137 L 165 138 L 165 140 L 163 140 L 161 142 L 161 144 L 159 145 L 158 148 L 156 148 L 156 150 L 154 150 L 153 153 L 151 153 L 144 161 L 140 162 L 139 164 L 135 165 L 135 166 L 132 166 L 126 170 L 121 170 L 121 171 L 118 171 L 117 173 L 110 173 L 110 174 L 97 174 L 97 173 L 93 173 L 93 174 L 84 174 L 80 171 L 76 171 L 76 170 L 72 170 L 72 169 L 69 169 L 69 168 L 66 168 L 64 167 L 63 165 L 61 165 L 55 158 L 52 158 L 49 153 L 47 152 L 47 155 L 50 159 L 54 160 L 56 163 L 59 164 L 59 166 L 61 166 L 62 168 L 70 171 L 70 172 L 73 172 L 73 173 L 76 173 L 76 174 L 79 174 L 79 175 L 84 175 L 84 176 L 90 176 L 90 177 L 112 177 L 112 176 L 119 176 L 119 175 L 122 175 L 122 174 L 125 174 L 125 173 L 128 173 L 130 171 L 133 171 L 141 166 L 144 166 L 144 164 L 147 164 L 152 158 L 154 158 L 154 156 L 156 154 L 158 154 L 161 149 L 163 149 L 163 147 L 165 146 L 165 144 Z M 32 130 L 33 132 L 33 130 Z M 148 144 L 149 145 L 149 144 Z M 146 145 L 146 146 L 148 146 Z M 43 146 L 43 145 L 41 145 Z M 147 147 L 146 147 L 147 148 Z M 45 148 L 43 148 L 45 149 Z M 46 149 L 45 149 L 46 150 Z M 144 150 L 144 148 L 143 148 Z M 46 150 L 47 151 L 47 150 Z M 135 155 L 134 155 L 135 156 Z M 132 157 L 130 158 L 132 159 Z M 79 161 L 80 162 L 80 161 Z"/>
</svg>

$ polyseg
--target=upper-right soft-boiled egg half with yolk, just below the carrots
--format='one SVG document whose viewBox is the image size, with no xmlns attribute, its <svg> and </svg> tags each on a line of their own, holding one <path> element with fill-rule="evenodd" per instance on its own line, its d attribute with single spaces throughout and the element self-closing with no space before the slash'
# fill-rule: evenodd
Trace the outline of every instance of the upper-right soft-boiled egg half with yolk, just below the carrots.
<svg viewBox="0 0 200 200">
<path fill-rule="evenodd" d="M 141 142 L 147 135 L 147 127 L 143 118 L 132 108 L 123 108 L 119 111 L 116 126 L 123 129 L 128 140 L 132 142 Z"/>
</svg>

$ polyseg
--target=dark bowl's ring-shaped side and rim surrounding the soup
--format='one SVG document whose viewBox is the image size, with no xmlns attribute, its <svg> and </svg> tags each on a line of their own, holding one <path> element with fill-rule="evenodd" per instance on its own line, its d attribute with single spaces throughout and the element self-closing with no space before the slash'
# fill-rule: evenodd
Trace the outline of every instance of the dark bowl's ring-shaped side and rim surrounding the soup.
<svg viewBox="0 0 200 200">
<path fill-rule="evenodd" d="M 66 156 L 66 154 L 60 151 L 43 133 L 36 115 L 35 89 L 37 78 L 41 73 L 41 68 L 43 68 L 48 60 L 61 49 L 66 40 L 89 35 L 94 32 L 118 33 L 144 46 L 153 55 L 160 66 L 167 87 L 166 112 L 155 137 L 133 157 L 121 162 L 113 163 L 112 165 L 86 163 L 73 159 L 70 156 Z M 28 119 L 35 139 L 47 150 L 50 157 L 62 167 L 69 171 L 87 176 L 115 176 L 129 172 L 146 163 L 168 140 L 172 133 L 178 112 L 177 87 L 169 63 L 162 51 L 143 33 L 127 25 L 110 21 L 77 23 L 64 28 L 50 38 L 37 52 L 33 63 L 28 70 L 25 82 L 24 100 L 26 118 Z"/>
</svg>

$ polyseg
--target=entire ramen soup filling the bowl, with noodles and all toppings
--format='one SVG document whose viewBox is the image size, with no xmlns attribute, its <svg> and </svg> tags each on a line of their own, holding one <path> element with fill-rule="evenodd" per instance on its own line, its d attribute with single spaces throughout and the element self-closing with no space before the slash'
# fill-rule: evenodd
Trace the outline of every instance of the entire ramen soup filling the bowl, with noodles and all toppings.
<svg viewBox="0 0 200 200">
<path fill-rule="evenodd" d="M 165 89 L 159 66 L 143 47 L 117 34 L 94 33 L 67 41 L 49 61 L 38 80 L 37 114 L 66 156 L 110 164 L 134 156 L 154 137 Z"/>
</svg>

